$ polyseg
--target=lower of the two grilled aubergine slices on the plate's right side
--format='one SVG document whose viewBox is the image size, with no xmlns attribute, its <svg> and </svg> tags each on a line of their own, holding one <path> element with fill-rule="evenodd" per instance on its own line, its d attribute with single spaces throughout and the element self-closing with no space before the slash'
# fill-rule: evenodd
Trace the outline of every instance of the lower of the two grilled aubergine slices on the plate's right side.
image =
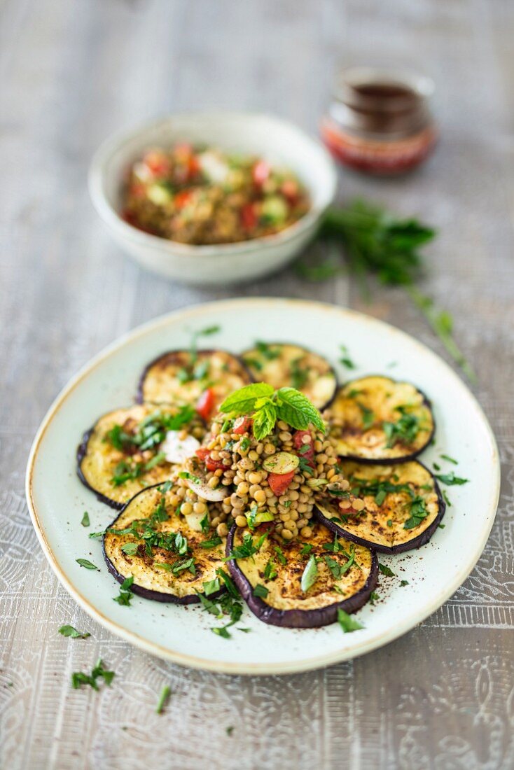
<svg viewBox="0 0 514 770">
<path fill-rule="evenodd" d="M 341 537 L 383 554 L 412 551 L 428 543 L 445 513 L 445 501 L 428 468 L 412 460 L 398 465 L 343 464 L 352 485 L 342 510 L 338 500 L 316 503 L 317 519 Z M 365 503 L 353 511 L 352 498 Z"/>
</svg>

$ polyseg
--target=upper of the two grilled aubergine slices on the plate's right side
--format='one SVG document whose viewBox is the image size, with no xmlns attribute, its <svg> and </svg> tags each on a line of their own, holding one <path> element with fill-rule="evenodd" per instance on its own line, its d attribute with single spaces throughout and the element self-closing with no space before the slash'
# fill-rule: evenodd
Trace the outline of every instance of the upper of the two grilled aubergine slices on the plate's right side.
<svg viewBox="0 0 514 770">
<path fill-rule="evenodd" d="M 361 463 L 401 463 L 428 446 L 435 430 L 430 403 L 410 383 L 361 377 L 341 387 L 331 405 L 338 454 Z"/>
</svg>

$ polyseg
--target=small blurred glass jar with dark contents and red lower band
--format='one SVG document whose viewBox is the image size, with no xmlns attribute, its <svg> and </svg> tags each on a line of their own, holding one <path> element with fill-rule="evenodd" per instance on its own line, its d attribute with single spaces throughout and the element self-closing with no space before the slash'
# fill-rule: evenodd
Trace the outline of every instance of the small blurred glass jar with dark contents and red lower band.
<svg viewBox="0 0 514 770">
<path fill-rule="evenodd" d="M 437 129 L 428 107 L 432 80 L 407 72 L 352 67 L 335 83 L 321 137 L 345 166 L 393 175 L 432 152 Z"/>
</svg>

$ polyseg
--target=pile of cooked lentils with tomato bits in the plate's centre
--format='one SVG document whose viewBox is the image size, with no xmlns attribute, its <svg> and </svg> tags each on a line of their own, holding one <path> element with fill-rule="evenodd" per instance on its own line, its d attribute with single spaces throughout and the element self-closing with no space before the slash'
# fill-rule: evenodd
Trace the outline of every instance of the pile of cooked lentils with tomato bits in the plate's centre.
<svg viewBox="0 0 514 770">
<path fill-rule="evenodd" d="M 283 460 L 296 464 L 286 474 L 277 473 L 274 464 Z M 183 478 L 179 476 L 173 492 L 180 513 L 208 514 L 210 526 L 220 537 L 230 526 L 256 526 L 273 522 L 273 531 L 284 540 L 310 537 L 315 496 L 348 493 L 349 483 L 341 475 L 334 441 L 321 430 L 294 430 L 278 420 L 264 440 L 257 440 L 248 417 L 238 420 L 216 418 L 204 445 L 195 457 L 186 460 Z M 198 478 L 210 490 L 225 487 L 226 497 L 206 503 L 190 486 Z M 362 500 L 344 497 L 341 509 L 360 511 Z M 263 516 L 262 514 L 267 514 Z"/>
</svg>

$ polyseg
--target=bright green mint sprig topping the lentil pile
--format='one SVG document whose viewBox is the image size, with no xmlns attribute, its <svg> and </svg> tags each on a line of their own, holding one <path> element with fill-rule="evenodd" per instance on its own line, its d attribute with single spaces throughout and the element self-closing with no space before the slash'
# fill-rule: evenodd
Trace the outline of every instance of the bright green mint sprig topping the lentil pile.
<svg viewBox="0 0 514 770">
<path fill-rule="evenodd" d="M 254 437 L 257 440 L 268 436 L 277 420 L 284 420 L 297 430 L 305 430 L 309 425 L 323 432 L 325 430 L 321 414 L 314 404 L 294 387 L 274 390 L 267 383 L 252 383 L 231 393 L 221 404 L 220 411 L 233 417 L 253 414 Z"/>
</svg>

